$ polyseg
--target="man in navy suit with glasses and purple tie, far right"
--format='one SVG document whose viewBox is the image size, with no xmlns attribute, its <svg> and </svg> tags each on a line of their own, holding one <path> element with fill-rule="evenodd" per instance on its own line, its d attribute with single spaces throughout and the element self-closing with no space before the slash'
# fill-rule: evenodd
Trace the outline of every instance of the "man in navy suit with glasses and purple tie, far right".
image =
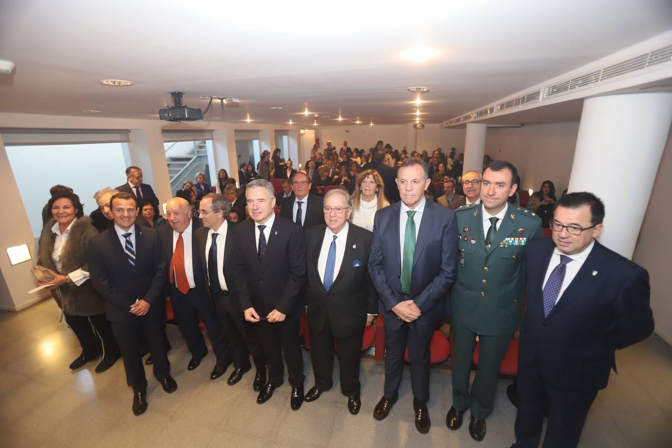
<svg viewBox="0 0 672 448">
<path fill-rule="evenodd" d="M 575 447 L 597 392 L 616 371 L 614 351 L 646 339 L 654 322 L 648 273 L 595 238 L 604 206 L 570 193 L 552 238 L 528 243 L 528 300 L 520 331 L 514 447 Z"/>
</svg>

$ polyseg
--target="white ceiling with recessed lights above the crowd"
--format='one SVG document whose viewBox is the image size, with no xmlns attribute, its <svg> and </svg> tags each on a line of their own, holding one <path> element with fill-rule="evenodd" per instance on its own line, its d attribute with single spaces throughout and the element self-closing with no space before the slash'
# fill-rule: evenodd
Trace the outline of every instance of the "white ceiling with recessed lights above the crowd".
<svg viewBox="0 0 672 448">
<path fill-rule="evenodd" d="M 179 90 L 203 109 L 243 99 L 206 115 L 227 122 L 312 124 L 308 107 L 319 124 L 403 124 L 424 85 L 422 122 L 440 123 L 672 28 L 669 0 L 227 3 L 0 2 L 0 59 L 16 63 L 0 111 L 153 118 Z M 439 56 L 401 58 L 419 41 Z"/>
</svg>

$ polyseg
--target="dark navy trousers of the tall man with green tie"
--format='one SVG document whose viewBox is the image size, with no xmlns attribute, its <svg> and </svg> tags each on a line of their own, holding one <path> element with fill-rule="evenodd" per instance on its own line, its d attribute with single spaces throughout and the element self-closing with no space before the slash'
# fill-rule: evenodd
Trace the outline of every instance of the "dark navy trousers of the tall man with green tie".
<svg viewBox="0 0 672 448">
<path fill-rule="evenodd" d="M 396 324 L 396 322 L 394 322 Z M 385 326 L 385 398 L 392 400 L 399 390 L 404 370 L 404 352 L 409 346 L 413 397 L 429 400 L 429 345 L 434 325 L 408 324 Z"/>
</svg>

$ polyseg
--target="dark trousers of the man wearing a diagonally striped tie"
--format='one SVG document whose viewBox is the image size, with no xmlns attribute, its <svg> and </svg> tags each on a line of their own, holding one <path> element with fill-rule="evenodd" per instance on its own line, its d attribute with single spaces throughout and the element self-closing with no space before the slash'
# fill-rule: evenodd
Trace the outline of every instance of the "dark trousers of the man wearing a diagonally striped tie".
<svg viewBox="0 0 672 448">
<path fill-rule="evenodd" d="M 165 379 L 170 375 L 170 364 L 166 356 L 164 321 L 157 311 L 149 312 L 144 316 L 133 316 L 128 322 L 112 322 L 112 332 L 124 359 L 126 383 L 133 388 L 133 392 L 146 392 L 147 379 L 144 375 L 141 345 L 144 339 L 149 345 L 149 352 L 154 359 L 152 365 L 154 376 Z"/>
</svg>

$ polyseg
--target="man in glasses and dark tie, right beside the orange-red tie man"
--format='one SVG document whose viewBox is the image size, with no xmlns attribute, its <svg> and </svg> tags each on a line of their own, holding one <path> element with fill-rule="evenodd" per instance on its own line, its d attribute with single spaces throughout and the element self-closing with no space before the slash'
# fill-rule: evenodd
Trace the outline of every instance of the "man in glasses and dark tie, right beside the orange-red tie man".
<svg viewBox="0 0 672 448">
<path fill-rule="evenodd" d="M 234 370 L 226 383 L 233 386 L 251 369 L 252 353 L 257 369 L 253 390 L 259 392 L 266 384 L 266 360 L 259 337 L 252 324 L 245 321 L 236 294 L 233 280 L 236 224 L 226 219 L 231 204 L 224 195 L 210 193 L 201 199 L 199 208 L 203 227 L 196 230 L 196 236 L 204 280 L 233 358 Z"/>
</svg>

